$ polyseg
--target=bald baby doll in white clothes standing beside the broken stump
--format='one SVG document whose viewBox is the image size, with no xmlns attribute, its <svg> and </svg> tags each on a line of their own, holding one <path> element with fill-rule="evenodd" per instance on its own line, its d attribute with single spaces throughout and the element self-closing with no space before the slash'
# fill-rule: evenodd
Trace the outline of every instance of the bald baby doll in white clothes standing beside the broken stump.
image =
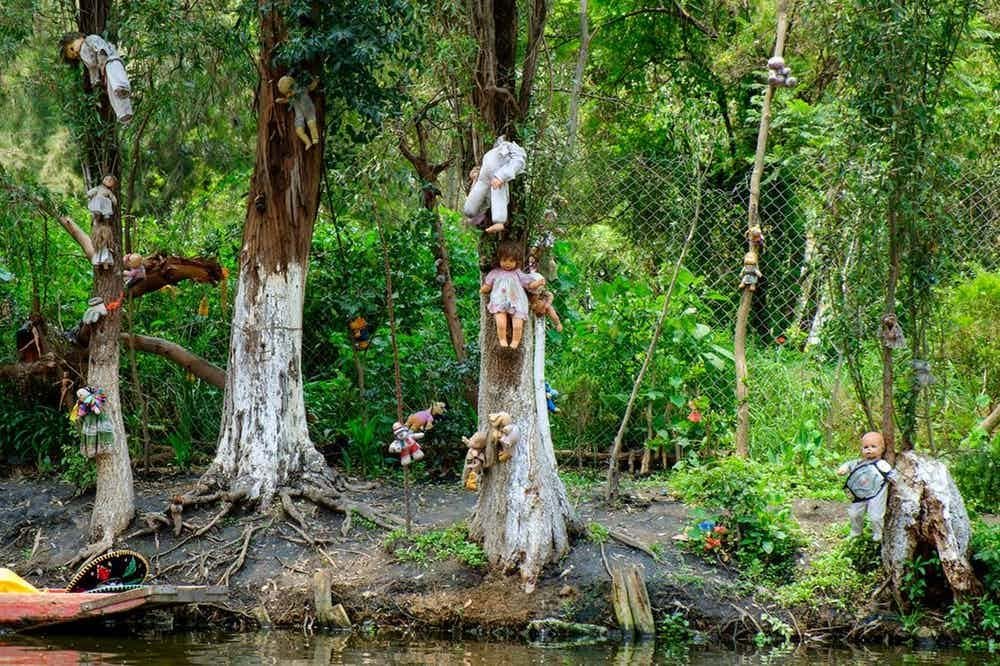
<svg viewBox="0 0 1000 666">
<path fill-rule="evenodd" d="M 847 508 L 851 519 L 851 536 L 861 536 L 865 513 L 872 523 L 872 539 L 882 540 L 882 525 L 885 522 L 886 481 L 894 481 L 896 473 L 885 460 L 885 443 L 877 432 L 865 433 L 861 438 L 861 458 L 851 460 L 839 468 L 837 474 L 847 475 L 844 488 L 853 500 Z"/>
</svg>

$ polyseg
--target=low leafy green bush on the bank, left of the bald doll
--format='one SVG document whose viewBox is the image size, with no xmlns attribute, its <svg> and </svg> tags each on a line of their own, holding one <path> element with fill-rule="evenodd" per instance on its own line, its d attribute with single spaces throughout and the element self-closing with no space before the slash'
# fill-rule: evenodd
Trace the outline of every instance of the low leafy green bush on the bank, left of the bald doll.
<svg viewBox="0 0 1000 666">
<path fill-rule="evenodd" d="M 787 571 L 802 537 L 788 497 L 773 485 L 765 466 L 733 457 L 678 467 L 671 488 L 733 533 L 736 558 L 743 567 L 766 578 Z"/>
</svg>

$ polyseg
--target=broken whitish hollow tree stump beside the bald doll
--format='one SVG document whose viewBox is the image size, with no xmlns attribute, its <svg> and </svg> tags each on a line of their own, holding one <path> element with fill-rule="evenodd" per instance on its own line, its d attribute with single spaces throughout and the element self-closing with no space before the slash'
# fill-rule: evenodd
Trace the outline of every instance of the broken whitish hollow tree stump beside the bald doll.
<svg viewBox="0 0 1000 666">
<path fill-rule="evenodd" d="M 969 563 L 969 515 L 948 468 L 939 460 L 904 451 L 896 457 L 898 479 L 889 488 L 882 562 L 900 607 L 906 563 L 936 551 L 956 599 L 982 594 Z"/>
</svg>

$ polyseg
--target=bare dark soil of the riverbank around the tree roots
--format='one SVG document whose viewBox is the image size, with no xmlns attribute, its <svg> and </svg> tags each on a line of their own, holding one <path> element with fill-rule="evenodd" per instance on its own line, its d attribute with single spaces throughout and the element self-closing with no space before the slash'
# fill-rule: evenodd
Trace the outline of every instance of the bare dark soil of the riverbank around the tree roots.
<svg viewBox="0 0 1000 666">
<path fill-rule="evenodd" d="M 159 512 L 166 499 L 191 488 L 195 478 L 176 476 L 139 479 L 138 513 Z M 754 601 L 767 591 L 747 587 L 735 572 L 712 566 L 684 552 L 672 537 L 686 526 L 686 508 L 666 489 L 634 492 L 623 508 L 609 511 L 596 488 L 573 488 L 583 524 L 599 522 L 639 541 L 658 544 L 658 561 L 609 541 L 603 547 L 586 538 L 549 567 L 536 590 L 526 594 L 516 576 L 488 572 L 454 560 L 426 564 L 399 562 L 383 547 L 385 530 L 355 519 L 341 534 L 343 517 L 307 502 L 297 504 L 306 514 L 310 545 L 278 510 L 271 515 L 234 512 L 205 535 L 189 539 L 172 532 L 123 538 L 116 546 L 135 549 L 149 559 L 152 581 L 164 584 L 226 584 L 231 622 L 301 626 L 313 614 L 311 581 L 317 569 L 333 575 L 334 602 L 343 603 L 351 620 L 397 629 L 436 629 L 472 635 L 510 635 L 533 619 L 563 620 L 613 627 L 610 576 L 605 559 L 634 562 L 645 570 L 654 610 L 682 611 L 694 628 L 727 637 L 754 632 L 761 614 L 779 612 Z M 402 491 L 380 485 L 359 493 L 376 509 L 402 514 Z M 454 485 L 414 488 L 414 528 L 422 530 L 466 520 L 476 496 Z M 14 569 L 36 585 L 60 587 L 73 571 L 65 563 L 84 545 L 92 496 L 78 497 L 70 486 L 51 481 L 0 480 L 0 566 Z M 844 519 L 838 502 L 797 501 L 796 517 L 814 542 L 831 522 Z M 217 506 L 185 512 L 197 529 L 218 511 Z M 136 521 L 131 531 L 141 529 Z M 250 545 L 242 565 L 239 552 L 248 530 Z M 603 553 L 602 553 L 603 550 Z M 833 611 L 831 611 L 833 612 Z M 830 626 L 833 616 L 824 620 Z"/>
</svg>

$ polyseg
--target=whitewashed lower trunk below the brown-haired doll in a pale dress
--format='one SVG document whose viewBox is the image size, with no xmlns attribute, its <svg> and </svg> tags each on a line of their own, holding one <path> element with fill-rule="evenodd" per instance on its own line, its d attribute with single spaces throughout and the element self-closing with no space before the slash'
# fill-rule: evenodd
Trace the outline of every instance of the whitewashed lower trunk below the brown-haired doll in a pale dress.
<svg viewBox="0 0 1000 666">
<path fill-rule="evenodd" d="M 536 324 L 537 325 L 534 325 Z M 517 351 L 497 347 L 492 315 L 482 308 L 479 335 L 483 350 L 479 377 L 480 430 L 487 415 L 510 413 L 520 430 L 513 457 L 497 462 L 487 448 L 487 466 L 470 535 L 483 542 L 490 563 L 517 570 L 526 591 L 534 589 L 542 568 L 570 546 L 576 518 L 556 468 L 545 402 L 545 323 L 529 315 Z"/>
</svg>

